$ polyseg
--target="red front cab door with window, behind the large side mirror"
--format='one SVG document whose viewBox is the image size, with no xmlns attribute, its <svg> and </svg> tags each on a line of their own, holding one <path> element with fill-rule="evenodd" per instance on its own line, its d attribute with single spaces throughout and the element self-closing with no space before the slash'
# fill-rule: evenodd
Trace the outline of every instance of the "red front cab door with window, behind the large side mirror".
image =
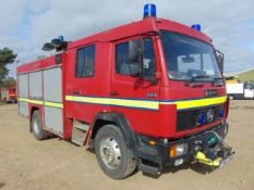
<svg viewBox="0 0 254 190">
<path fill-rule="evenodd" d="M 129 41 L 133 38 L 114 43 L 110 98 L 117 99 L 116 104 L 111 104 L 112 109 L 128 116 L 134 129 L 142 132 L 147 131 L 147 127 L 157 126 L 160 87 L 159 80 L 155 83 L 143 78 L 155 78 L 160 67 L 155 38 L 136 39 L 141 42 L 143 64 L 129 59 Z M 140 65 L 143 65 L 142 69 Z M 143 71 L 143 77 L 140 71 Z"/>
</svg>

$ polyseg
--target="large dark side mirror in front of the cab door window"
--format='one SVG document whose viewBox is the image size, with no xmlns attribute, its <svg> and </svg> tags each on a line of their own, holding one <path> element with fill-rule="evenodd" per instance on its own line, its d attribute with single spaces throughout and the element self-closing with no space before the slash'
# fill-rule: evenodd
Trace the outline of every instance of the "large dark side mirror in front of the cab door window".
<svg viewBox="0 0 254 190">
<path fill-rule="evenodd" d="M 141 59 L 141 42 L 138 39 L 129 41 L 129 61 L 140 63 Z"/>
</svg>

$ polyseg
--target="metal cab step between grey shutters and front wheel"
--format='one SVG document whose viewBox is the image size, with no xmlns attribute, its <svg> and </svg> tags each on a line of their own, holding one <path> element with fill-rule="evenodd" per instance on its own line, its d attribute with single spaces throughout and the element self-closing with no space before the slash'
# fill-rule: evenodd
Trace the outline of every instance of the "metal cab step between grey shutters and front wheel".
<svg viewBox="0 0 254 190">
<path fill-rule="evenodd" d="M 72 142 L 77 145 L 84 145 L 88 130 L 88 124 L 75 119 L 72 128 Z"/>
</svg>

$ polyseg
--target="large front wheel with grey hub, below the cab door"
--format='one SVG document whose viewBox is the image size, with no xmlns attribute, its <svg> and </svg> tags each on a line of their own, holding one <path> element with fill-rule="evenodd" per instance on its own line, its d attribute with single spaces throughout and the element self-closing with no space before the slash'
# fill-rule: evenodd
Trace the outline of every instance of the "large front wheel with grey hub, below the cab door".
<svg viewBox="0 0 254 190">
<path fill-rule="evenodd" d="M 105 125 L 95 137 L 95 153 L 100 168 L 113 179 L 123 179 L 136 168 L 133 151 L 124 143 L 123 134 L 114 125 Z"/>
</svg>

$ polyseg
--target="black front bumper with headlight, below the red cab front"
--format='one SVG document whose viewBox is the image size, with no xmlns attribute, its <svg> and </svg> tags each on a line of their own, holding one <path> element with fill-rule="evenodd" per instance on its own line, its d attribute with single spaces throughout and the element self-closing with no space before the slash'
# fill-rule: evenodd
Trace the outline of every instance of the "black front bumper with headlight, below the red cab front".
<svg viewBox="0 0 254 190">
<path fill-rule="evenodd" d="M 142 138 L 140 138 L 140 145 L 136 150 L 136 155 L 140 159 L 140 169 L 145 170 L 145 165 L 148 165 L 158 168 L 155 172 L 160 173 L 165 167 L 176 165 L 177 160 L 181 159 L 184 163 L 193 162 L 198 151 L 208 152 L 211 147 L 218 143 L 218 141 L 211 141 L 215 136 L 214 131 L 223 139 L 228 134 L 228 124 L 219 124 L 209 130 L 180 139 L 154 139 L 156 140 L 156 145 L 144 143 L 142 142 Z M 181 143 L 188 144 L 186 153 L 184 155 L 170 157 L 170 148 Z"/>
</svg>

